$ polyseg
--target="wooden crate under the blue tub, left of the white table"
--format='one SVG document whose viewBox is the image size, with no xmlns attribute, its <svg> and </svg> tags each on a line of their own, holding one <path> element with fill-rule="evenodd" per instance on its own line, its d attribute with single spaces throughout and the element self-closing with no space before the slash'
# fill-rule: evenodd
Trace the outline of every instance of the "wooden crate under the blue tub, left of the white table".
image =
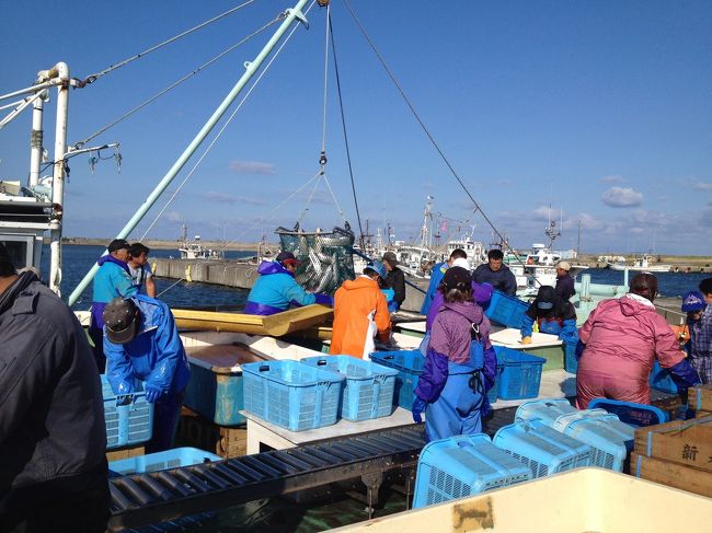
<svg viewBox="0 0 712 533">
<path fill-rule="evenodd" d="M 198 448 L 221 457 L 237 457 L 248 450 L 248 430 L 244 427 L 218 426 L 183 407 L 175 442 L 176 445 Z"/>
</svg>

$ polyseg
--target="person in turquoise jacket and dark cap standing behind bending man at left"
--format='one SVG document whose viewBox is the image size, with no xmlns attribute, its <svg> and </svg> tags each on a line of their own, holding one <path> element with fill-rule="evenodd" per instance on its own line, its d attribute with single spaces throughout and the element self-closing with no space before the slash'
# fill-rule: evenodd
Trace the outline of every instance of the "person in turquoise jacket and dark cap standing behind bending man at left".
<svg viewBox="0 0 712 533">
<path fill-rule="evenodd" d="M 128 298 L 138 292 L 134 285 L 128 267 L 129 244 L 124 239 L 114 239 L 106 251 L 108 254 L 96 262 L 99 270 L 94 276 L 94 290 L 92 296 L 91 322 L 89 337 L 94 345 L 94 360 L 99 373 L 104 373 L 106 357 L 104 356 L 104 308 L 114 298 Z"/>
</svg>

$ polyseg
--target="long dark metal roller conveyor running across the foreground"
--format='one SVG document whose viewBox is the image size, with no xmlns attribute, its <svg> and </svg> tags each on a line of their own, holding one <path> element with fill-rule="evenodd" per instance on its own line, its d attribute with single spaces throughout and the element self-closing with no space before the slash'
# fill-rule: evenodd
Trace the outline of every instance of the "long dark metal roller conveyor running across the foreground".
<svg viewBox="0 0 712 533">
<path fill-rule="evenodd" d="M 410 471 L 425 444 L 423 426 L 374 431 L 287 450 L 110 479 L 110 531 L 360 478 L 375 501 L 383 474 Z"/>
</svg>

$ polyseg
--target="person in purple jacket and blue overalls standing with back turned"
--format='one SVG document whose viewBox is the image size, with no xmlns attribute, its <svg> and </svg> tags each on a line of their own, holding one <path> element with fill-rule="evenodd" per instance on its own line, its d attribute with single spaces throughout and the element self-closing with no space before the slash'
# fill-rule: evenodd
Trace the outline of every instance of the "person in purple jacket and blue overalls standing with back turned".
<svg viewBox="0 0 712 533">
<path fill-rule="evenodd" d="M 412 406 L 416 424 L 425 412 L 428 442 L 482 432 L 482 417 L 490 412 L 486 394 L 497 367 L 490 321 L 472 301 L 470 271 L 450 267 L 439 290 L 445 302 L 433 324 Z"/>
</svg>

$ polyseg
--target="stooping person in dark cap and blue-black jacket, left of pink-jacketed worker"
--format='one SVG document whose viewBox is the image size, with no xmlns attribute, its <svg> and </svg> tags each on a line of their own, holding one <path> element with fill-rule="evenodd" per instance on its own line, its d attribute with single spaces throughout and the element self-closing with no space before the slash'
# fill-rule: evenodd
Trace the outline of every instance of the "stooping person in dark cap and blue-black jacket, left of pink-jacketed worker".
<svg viewBox="0 0 712 533">
<path fill-rule="evenodd" d="M 539 287 L 537 298 L 521 317 L 522 345 L 531 344 L 535 322 L 540 333 L 556 335 L 565 343 L 578 341 L 576 308 L 570 301 L 562 300 L 553 287 Z"/>
</svg>

